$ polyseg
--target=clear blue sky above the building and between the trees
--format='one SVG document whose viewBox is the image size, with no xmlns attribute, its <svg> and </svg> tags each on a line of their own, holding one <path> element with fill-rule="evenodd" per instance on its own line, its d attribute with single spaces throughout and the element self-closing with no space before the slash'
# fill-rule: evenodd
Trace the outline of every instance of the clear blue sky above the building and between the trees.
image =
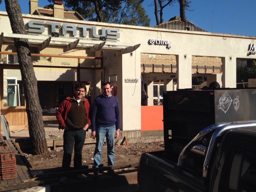
<svg viewBox="0 0 256 192">
<path fill-rule="evenodd" d="M 22 13 L 29 13 L 29 0 L 18 0 Z M 150 26 L 156 24 L 153 0 L 145 0 L 143 7 L 151 18 Z M 38 6 L 48 5 L 47 0 L 38 0 Z M 256 36 L 256 0 L 191 0 L 186 10 L 186 19 L 208 32 Z M 5 11 L 4 0 L 0 11 Z M 164 22 L 171 17 L 180 16 L 179 4 L 164 8 Z"/>
</svg>

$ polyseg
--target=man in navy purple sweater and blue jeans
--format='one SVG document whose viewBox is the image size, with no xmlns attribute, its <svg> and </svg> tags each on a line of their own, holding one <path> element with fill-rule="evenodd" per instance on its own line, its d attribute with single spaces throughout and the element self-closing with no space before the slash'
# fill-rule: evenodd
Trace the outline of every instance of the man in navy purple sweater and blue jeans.
<svg viewBox="0 0 256 192">
<path fill-rule="evenodd" d="M 114 166 L 115 138 L 120 134 L 120 111 L 117 98 L 111 94 L 112 85 L 110 82 L 102 84 L 103 94 L 95 98 L 92 105 L 91 117 L 91 138 L 96 138 L 96 146 L 93 154 L 94 165 L 98 167 L 101 164 L 101 150 L 106 137 L 108 165 Z M 109 170 L 109 174 L 116 176 L 114 170 Z M 98 178 L 98 172 L 94 172 L 94 177 Z"/>
</svg>

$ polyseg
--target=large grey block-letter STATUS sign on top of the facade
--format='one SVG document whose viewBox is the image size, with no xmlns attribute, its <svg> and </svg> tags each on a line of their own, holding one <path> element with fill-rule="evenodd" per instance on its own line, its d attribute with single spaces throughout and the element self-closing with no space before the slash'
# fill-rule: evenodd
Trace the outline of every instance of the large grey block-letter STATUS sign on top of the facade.
<svg viewBox="0 0 256 192">
<path fill-rule="evenodd" d="M 45 29 L 47 28 L 47 29 Z M 74 25 L 70 23 L 56 23 L 49 21 L 38 21 L 38 20 L 30 20 L 28 22 L 28 32 L 33 34 L 42 34 L 45 30 L 48 30 L 48 33 L 56 32 L 62 33 L 63 36 L 67 36 L 68 34 L 72 36 L 77 35 L 77 31 L 81 30 L 81 37 L 84 38 L 96 38 L 106 37 L 107 39 L 119 39 L 120 34 L 118 33 L 120 29 L 108 28 L 105 27 L 96 27 L 96 26 L 88 26 L 88 25 Z M 87 33 L 88 32 L 88 33 Z"/>
</svg>

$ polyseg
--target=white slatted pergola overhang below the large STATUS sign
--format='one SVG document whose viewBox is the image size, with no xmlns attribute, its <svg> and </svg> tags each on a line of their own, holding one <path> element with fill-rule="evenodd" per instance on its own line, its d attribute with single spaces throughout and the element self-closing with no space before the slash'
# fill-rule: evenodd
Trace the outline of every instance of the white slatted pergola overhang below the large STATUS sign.
<svg viewBox="0 0 256 192">
<path fill-rule="evenodd" d="M 38 47 L 40 51 L 46 47 L 63 48 L 64 52 L 71 49 L 86 50 L 90 53 L 97 50 L 117 51 L 118 54 L 126 54 L 135 51 L 140 44 L 128 44 L 114 41 L 96 41 L 90 39 L 78 39 L 67 37 L 49 37 L 43 35 L 22 35 L 14 33 L 2 33 L 0 47 L 5 44 L 14 44 L 14 38 L 27 39 L 30 46 Z"/>
</svg>

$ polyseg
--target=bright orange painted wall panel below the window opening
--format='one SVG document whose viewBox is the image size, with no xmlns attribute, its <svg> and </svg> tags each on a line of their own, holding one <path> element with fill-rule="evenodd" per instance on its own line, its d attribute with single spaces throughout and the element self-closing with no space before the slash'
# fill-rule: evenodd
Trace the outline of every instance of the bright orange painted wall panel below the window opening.
<svg viewBox="0 0 256 192">
<path fill-rule="evenodd" d="M 164 130 L 163 106 L 141 106 L 141 131 Z"/>
</svg>

